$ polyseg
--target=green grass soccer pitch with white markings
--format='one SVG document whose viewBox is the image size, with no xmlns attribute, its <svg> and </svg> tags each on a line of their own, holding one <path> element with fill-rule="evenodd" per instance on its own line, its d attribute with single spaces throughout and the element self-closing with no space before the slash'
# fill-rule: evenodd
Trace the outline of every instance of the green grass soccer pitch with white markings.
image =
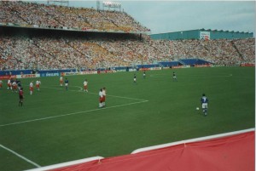
<svg viewBox="0 0 256 171">
<path fill-rule="evenodd" d="M 172 80 L 172 71 L 177 82 Z M 137 83 L 133 74 L 137 73 Z M 34 79 L 22 79 L 25 100 L 0 89 L 0 168 L 36 168 L 23 157 L 46 166 L 85 157 L 113 157 L 138 148 L 212 134 L 254 128 L 255 68 L 188 68 L 69 76 L 69 89 L 59 77 L 41 77 L 40 91 L 29 94 Z M 81 91 L 84 78 L 89 93 Z M 98 92 L 107 88 L 105 108 Z M 201 94 L 209 99 L 207 117 Z M 5 149 L 6 148 L 6 149 Z M 13 154 L 7 150 L 15 151 Z"/>
</svg>

